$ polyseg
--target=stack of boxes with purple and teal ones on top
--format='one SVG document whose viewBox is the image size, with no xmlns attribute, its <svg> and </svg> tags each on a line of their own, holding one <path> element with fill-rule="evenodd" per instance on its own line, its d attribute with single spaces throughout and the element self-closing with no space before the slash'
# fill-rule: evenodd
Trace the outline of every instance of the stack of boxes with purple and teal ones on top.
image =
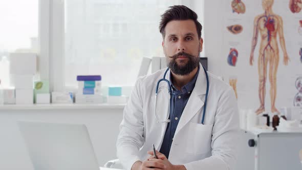
<svg viewBox="0 0 302 170">
<path fill-rule="evenodd" d="M 75 103 L 89 104 L 103 102 L 100 75 L 77 76 L 77 81 L 78 91 L 75 96 Z"/>
</svg>

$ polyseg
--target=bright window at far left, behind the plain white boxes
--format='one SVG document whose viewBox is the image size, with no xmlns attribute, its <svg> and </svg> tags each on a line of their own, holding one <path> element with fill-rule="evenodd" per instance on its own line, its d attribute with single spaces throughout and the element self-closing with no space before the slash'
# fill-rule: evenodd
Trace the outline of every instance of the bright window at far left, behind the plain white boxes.
<svg viewBox="0 0 302 170">
<path fill-rule="evenodd" d="M 38 0 L 0 1 L 0 20 L 0 79 L 9 87 L 9 53 L 37 51 Z"/>
</svg>

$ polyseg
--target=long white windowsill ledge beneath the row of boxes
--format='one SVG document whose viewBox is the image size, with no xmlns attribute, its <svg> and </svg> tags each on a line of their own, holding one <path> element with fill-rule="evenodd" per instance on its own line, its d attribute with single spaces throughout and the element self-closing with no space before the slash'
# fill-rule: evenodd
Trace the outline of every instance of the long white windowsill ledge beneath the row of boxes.
<svg viewBox="0 0 302 170">
<path fill-rule="evenodd" d="M 59 110 L 59 109 L 124 109 L 126 104 L 6 104 L 0 105 L 0 111 L 4 110 Z"/>
</svg>

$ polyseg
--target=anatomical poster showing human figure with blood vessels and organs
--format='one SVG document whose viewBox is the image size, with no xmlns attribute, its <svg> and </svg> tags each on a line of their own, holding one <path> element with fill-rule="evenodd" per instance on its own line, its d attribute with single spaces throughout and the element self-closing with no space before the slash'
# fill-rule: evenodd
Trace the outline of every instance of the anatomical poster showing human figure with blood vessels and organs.
<svg viewBox="0 0 302 170">
<path fill-rule="evenodd" d="M 223 78 L 243 109 L 302 106 L 302 1 L 224 1 Z"/>
</svg>

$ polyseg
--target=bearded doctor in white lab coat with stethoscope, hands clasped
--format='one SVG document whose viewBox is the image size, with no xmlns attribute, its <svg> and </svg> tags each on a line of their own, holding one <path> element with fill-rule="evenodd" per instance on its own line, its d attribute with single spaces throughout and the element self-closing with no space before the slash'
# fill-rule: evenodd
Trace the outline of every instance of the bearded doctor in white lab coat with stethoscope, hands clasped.
<svg viewBox="0 0 302 170">
<path fill-rule="evenodd" d="M 117 155 L 126 169 L 234 167 L 237 102 L 231 87 L 199 63 L 203 39 L 197 17 L 185 6 L 172 6 L 161 16 L 168 69 L 139 78 L 124 109 Z M 162 78 L 166 81 L 157 87 Z"/>
</svg>

